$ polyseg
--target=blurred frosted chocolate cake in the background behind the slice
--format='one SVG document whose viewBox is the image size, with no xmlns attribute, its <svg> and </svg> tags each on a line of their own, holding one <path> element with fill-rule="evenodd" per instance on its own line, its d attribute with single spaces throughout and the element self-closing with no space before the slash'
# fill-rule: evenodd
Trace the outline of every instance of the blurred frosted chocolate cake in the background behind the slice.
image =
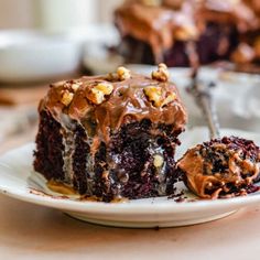
<svg viewBox="0 0 260 260">
<path fill-rule="evenodd" d="M 127 0 L 115 12 L 128 63 L 260 63 L 258 0 Z"/>
</svg>

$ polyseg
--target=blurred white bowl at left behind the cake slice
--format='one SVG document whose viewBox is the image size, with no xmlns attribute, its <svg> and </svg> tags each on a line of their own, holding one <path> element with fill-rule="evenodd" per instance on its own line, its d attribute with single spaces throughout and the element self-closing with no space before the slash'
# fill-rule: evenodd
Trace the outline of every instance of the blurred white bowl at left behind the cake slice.
<svg viewBox="0 0 260 260">
<path fill-rule="evenodd" d="M 17 84 L 58 78 L 80 65 L 82 47 L 66 34 L 0 32 L 0 82 Z"/>
</svg>

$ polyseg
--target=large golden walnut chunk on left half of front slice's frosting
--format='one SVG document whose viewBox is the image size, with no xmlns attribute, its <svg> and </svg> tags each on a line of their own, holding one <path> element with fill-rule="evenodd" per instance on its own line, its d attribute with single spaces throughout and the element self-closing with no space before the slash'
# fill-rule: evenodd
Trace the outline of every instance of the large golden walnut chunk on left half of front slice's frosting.
<svg viewBox="0 0 260 260">
<path fill-rule="evenodd" d="M 112 90 L 113 90 L 112 84 L 106 82 L 98 83 L 86 94 L 86 97 L 91 102 L 99 105 L 105 100 L 105 96 L 110 95 Z"/>
</svg>

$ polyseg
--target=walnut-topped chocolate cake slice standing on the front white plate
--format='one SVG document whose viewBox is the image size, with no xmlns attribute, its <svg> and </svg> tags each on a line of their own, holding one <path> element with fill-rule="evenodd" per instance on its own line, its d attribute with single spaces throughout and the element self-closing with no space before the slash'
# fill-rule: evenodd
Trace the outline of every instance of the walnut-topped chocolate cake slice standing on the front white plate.
<svg viewBox="0 0 260 260">
<path fill-rule="evenodd" d="M 186 112 L 164 64 L 53 84 L 39 113 L 34 169 L 51 182 L 110 202 L 166 195 L 177 180 Z"/>
</svg>

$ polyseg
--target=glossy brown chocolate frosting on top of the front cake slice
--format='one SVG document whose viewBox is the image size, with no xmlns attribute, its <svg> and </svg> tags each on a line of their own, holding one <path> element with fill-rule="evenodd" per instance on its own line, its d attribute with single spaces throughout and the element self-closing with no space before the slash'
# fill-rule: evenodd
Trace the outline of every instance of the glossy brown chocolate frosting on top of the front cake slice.
<svg viewBox="0 0 260 260">
<path fill-rule="evenodd" d="M 88 99 L 87 94 L 99 83 L 112 85 L 112 91 L 97 105 Z M 73 90 L 75 84 L 78 87 Z M 154 106 L 144 94 L 149 86 L 161 89 L 162 100 L 170 94 L 175 95 L 174 100 L 162 107 Z M 63 102 L 65 91 L 72 96 L 69 104 Z M 77 121 L 86 130 L 87 137 L 98 140 L 97 142 L 108 142 L 110 134 L 122 124 L 142 119 L 172 126 L 173 131 L 182 131 L 186 123 L 186 111 L 175 85 L 138 74 L 131 74 L 124 80 L 111 80 L 108 76 L 84 76 L 53 84 L 39 109 L 51 112 L 68 129 L 74 127 L 74 120 Z"/>
</svg>

